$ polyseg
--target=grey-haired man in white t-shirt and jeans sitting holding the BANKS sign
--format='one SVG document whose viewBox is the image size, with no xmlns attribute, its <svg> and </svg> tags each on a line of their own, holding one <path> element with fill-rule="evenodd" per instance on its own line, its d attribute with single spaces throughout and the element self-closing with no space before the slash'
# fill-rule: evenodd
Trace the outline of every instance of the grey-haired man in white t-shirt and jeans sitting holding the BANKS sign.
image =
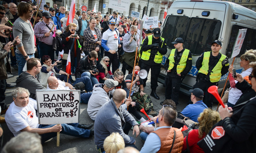
<svg viewBox="0 0 256 153">
<path fill-rule="evenodd" d="M 38 133 L 42 142 L 57 136 L 57 132 L 82 138 L 94 135 L 94 130 L 88 130 L 85 125 L 79 123 L 39 125 L 36 115 L 37 101 L 29 98 L 29 95 L 29 91 L 21 87 L 12 92 L 13 102 L 6 111 L 5 121 L 15 137 L 23 131 Z"/>
</svg>

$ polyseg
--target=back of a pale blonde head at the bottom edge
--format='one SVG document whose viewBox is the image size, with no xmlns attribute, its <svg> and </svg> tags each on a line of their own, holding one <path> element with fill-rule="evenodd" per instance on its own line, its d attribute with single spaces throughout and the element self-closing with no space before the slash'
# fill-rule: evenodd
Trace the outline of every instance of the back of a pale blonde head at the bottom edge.
<svg viewBox="0 0 256 153">
<path fill-rule="evenodd" d="M 104 140 L 103 147 L 106 153 L 117 153 L 117 151 L 124 149 L 124 139 L 118 132 L 113 132 Z"/>
</svg>

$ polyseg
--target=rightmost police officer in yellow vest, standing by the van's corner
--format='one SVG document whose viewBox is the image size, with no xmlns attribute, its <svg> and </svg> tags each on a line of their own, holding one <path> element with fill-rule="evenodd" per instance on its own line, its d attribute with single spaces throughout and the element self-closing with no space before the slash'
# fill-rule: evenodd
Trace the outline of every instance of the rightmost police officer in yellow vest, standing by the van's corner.
<svg viewBox="0 0 256 153">
<path fill-rule="evenodd" d="M 229 68 L 228 57 L 219 53 L 221 46 L 221 42 L 215 40 L 211 43 L 211 52 L 202 53 L 196 62 L 198 74 L 193 89 L 200 88 L 204 91 L 204 103 L 208 107 L 212 107 L 215 97 L 208 93 L 207 89 L 213 85 L 218 86 L 220 77 L 225 75 Z"/>
</svg>

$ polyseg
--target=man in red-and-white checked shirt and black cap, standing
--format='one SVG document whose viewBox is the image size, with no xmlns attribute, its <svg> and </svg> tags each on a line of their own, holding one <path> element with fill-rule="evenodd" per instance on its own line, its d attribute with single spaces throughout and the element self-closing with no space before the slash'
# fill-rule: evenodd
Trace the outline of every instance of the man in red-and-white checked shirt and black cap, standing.
<svg viewBox="0 0 256 153">
<path fill-rule="evenodd" d="M 52 28 L 54 23 L 51 21 L 51 15 L 49 12 L 43 12 L 42 18 L 43 20 L 38 22 L 34 28 L 35 36 L 40 41 L 40 57 L 42 59 L 44 55 L 49 55 L 52 62 L 54 62 L 54 50 L 52 49 L 52 35 L 54 29 L 52 29 L 52 32 L 50 33 L 50 29 Z"/>
</svg>

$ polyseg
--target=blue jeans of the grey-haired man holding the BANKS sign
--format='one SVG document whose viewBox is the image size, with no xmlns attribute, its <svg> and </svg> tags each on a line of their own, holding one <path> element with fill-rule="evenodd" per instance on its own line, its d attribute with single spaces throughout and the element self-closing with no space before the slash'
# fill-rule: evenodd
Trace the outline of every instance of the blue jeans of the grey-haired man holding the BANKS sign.
<svg viewBox="0 0 256 153">
<path fill-rule="evenodd" d="M 74 137 L 88 138 L 90 136 L 90 130 L 85 130 L 85 129 L 82 129 L 82 128 L 78 128 L 77 127 L 78 125 L 79 125 L 78 123 L 61 124 L 62 131 L 60 133 L 70 135 L 70 136 L 74 136 Z M 38 128 L 45 129 L 45 128 L 50 128 L 52 126 L 54 126 L 54 124 L 52 124 L 52 125 L 42 125 L 42 124 L 40 124 Z M 57 136 L 57 132 L 41 134 L 42 143 L 44 143 L 45 141 L 47 141 L 50 138 L 53 138 L 55 136 Z"/>
</svg>

